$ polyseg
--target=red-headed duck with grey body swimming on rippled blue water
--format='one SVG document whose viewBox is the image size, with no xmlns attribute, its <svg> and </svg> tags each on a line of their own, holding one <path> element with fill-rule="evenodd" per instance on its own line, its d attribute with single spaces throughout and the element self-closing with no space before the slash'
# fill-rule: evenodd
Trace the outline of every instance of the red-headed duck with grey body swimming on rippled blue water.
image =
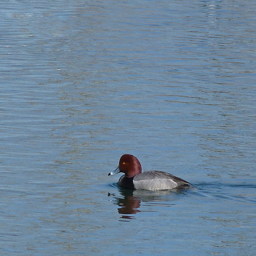
<svg viewBox="0 0 256 256">
<path fill-rule="evenodd" d="M 118 167 L 108 176 L 123 172 L 118 180 L 118 185 L 130 190 L 170 190 L 192 188 L 192 184 L 168 172 L 145 171 L 142 172 L 141 164 L 136 156 L 124 154 L 119 160 Z"/>
</svg>

